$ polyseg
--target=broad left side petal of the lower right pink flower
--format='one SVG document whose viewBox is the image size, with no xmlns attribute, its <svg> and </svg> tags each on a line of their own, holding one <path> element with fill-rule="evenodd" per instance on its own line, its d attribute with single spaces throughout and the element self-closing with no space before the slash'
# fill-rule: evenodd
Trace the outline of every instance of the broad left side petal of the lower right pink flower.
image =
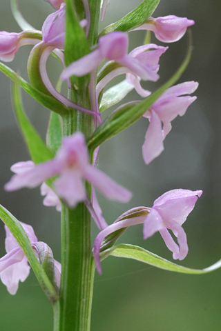
<svg viewBox="0 0 221 331">
<path fill-rule="evenodd" d="M 164 221 L 160 214 L 154 208 L 151 208 L 151 211 L 148 213 L 144 221 L 144 239 L 147 239 L 155 232 L 160 231 L 164 228 Z"/>
</svg>

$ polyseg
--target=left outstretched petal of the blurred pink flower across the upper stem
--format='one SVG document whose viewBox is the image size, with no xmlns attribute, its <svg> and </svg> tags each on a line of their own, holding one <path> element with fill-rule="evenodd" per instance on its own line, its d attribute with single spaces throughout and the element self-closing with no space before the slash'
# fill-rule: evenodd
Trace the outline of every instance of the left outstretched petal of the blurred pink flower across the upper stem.
<svg viewBox="0 0 221 331">
<path fill-rule="evenodd" d="M 81 57 L 81 59 L 73 62 L 61 74 L 61 81 L 64 81 L 71 76 L 81 77 L 89 74 L 97 68 L 99 63 L 104 59 L 99 52 L 99 49 Z"/>
</svg>

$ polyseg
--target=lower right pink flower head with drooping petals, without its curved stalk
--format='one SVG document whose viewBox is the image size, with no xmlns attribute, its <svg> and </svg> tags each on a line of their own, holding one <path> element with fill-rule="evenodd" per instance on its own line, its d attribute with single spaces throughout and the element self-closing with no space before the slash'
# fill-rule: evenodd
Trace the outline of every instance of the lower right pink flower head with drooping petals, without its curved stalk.
<svg viewBox="0 0 221 331">
<path fill-rule="evenodd" d="M 201 190 L 182 189 L 171 190 L 162 194 L 154 201 L 153 207 L 144 221 L 144 239 L 159 231 L 166 246 L 173 252 L 173 259 L 183 260 L 188 253 L 188 245 L 182 224 L 193 210 L 201 194 Z M 175 243 L 168 229 L 172 230 L 177 237 L 180 247 Z"/>
</svg>

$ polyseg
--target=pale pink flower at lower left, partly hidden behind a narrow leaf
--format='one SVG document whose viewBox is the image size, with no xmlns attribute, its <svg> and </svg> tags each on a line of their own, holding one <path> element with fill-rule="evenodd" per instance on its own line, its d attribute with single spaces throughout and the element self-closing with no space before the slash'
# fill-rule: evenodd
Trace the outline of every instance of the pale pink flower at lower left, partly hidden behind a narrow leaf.
<svg viewBox="0 0 221 331">
<path fill-rule="evenodd" d="M 32 244 L 32 248 L 35 250 L 35 254 L 38 257 L 37 250 L 39 245 L 46 245 L 41 241 L 37 241 L 35 232 L 31 225 L 20 222 L 23 230 L 25 230 L 28 235 L 28 239 Z M 25 281 L 30 272 L 30 266 L 28 265 L 28 259 L 26 255 L 21 250 L 19 244 L 12 236 L 12 233 L 5 225 L 6 230 L 6 252 L 7 254 L 0 259 L 0 278 L 4 285 L 6 285 L 7 290 L 10 294 L 16 294 L 19 288 L 19 281 Z M 57 286 L 60 285 L 61 278 L 61 264 L 54 261 L 54 273 L 55 281 Z"/>
</svg>

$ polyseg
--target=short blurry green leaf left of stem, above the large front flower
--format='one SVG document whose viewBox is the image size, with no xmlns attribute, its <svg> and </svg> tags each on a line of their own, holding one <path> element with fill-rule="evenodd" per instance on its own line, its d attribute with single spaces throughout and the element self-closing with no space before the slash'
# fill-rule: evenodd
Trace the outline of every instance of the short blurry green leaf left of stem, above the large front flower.
<svg viewBox="0 0 221 331">
<path fill-rule="evenodd" d="M 50 121 L 48 124 L 48 131 L 46 136 L 46 144 L 53 154 L 57 152 L 61 146 L 62 128 L 59 114 L 52 112 L 50 114 Z"/>
</svg>

